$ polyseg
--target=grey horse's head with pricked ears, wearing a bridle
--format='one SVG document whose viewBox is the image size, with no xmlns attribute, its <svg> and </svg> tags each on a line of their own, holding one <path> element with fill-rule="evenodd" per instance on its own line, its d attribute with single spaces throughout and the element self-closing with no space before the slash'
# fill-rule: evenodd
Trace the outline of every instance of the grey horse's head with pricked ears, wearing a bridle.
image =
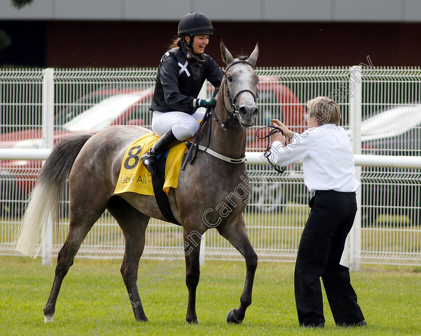
<svg viewBox="0 0 421 336">
<path fill-rule="evenodd" d="M 222 59 L 227 63 L 222 85 L 225 109 L 235 114 L 244 128 L 253 126 L 259 112 L 256 106 L 259 78 L 254 69 L 259 56 L 258 44 L 248 59 L 234 59 L 221 40 L 221 53 Z"/>
</svg>

